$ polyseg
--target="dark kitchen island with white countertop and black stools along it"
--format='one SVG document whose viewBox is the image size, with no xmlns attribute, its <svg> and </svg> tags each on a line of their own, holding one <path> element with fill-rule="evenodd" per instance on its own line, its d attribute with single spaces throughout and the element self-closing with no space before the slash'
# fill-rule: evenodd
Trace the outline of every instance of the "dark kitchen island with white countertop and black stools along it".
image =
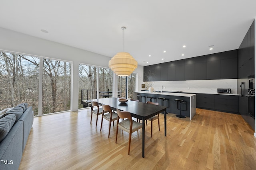
<svg viewBox="0 0 256 170">
<path fill-rule="evenodd" d="M 181 115 L 189 117 L 189 119 L 191 120 L 196 114 L 196 94 L 141 91 L 134 92 L 135 99 L 137 99 L 137 95 L 145 96 L 145 98 L 141 99 L 141 102 L 145 103 L 147 101 L 150 101 L 150 98 L 147 98 L 147 96 L 156 98 L 156 100 L 152 99 L 152 102 L 158 102 L 159 105 L 162 104 L 162 100 L 159 100 L 158 98 L 169 99 L 169 101 L 164 101 L 164 106 L 168 107 L 168 113 L 174 113 L 176 115 L 180 114 L 180 106 L 178 105 L 178 102 L 175 102 L 175 99 L 184 100 L 186 103 L 182 103 Z"/>
</svg>

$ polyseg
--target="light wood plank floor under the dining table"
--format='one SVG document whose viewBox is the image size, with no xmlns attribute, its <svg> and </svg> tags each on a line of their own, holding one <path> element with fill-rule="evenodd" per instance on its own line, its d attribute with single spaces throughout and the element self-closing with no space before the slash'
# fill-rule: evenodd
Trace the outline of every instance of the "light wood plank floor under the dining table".
<svg viewBox="0 0 256 170">
<path fill-rule="evenodd" d="M 142 158 L 142 129 L 132 133 L 128 155 L 128 133 L 118 132 L 116 121 L 108 138 L 108 121 L 101 115 L 90 124 L 90 109 L 35 117 L 23 152 L 21 170 L 83 169 L 256 169 L 256 138 L 241 115 L 196 109 L 196 115 L 180 119 L 160 114 L 160 131 L 153 122 L 146 126 L 145 158 Z"/>
</svg>

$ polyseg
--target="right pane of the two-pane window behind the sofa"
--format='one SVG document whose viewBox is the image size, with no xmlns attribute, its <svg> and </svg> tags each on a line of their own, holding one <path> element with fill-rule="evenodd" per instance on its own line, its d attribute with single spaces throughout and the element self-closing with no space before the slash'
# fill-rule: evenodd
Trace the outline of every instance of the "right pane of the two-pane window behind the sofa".
<svg viewBox="0 0 256 170">
<path fill-rule="evenodd" d="M 70 110 L 71 64 L 44 59 L 42 114 Z"/>
</svg>

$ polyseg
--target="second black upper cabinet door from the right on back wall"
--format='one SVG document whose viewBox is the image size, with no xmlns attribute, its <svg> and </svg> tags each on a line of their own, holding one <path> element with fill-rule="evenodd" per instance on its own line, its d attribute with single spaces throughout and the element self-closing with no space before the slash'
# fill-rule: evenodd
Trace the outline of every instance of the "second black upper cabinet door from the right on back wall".
<svg viewBox="0 0 256 170">
<path fill-rule="evenodd" d="M 220 60 L 207 61 L 207 79 L 220 79 Z"/>
</svg>

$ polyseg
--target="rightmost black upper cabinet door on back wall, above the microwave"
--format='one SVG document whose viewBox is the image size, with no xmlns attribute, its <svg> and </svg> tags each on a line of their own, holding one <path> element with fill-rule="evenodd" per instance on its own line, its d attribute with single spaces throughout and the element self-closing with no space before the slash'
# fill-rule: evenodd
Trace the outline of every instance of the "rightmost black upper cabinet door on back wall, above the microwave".
<svg viewBox="0 0 256 170">
<path fill-rule="evenodd" d="M 224 59 L 220 61 L 220 78 L 232 79 L 237 78 L 237 57 L 232 59 Z"/>
</svg>

